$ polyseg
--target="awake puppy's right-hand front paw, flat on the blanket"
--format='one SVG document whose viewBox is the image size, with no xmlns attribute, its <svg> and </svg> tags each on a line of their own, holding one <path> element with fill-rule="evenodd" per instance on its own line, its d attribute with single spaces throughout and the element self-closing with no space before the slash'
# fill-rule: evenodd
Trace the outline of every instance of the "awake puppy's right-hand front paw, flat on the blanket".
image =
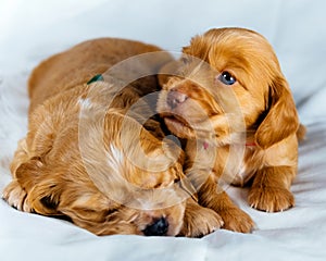
<svg viewBox="0 0 326 261">
<path fill-rule="evenodd" d="M 258 210 L 278 212 L 293 207 L 294 197 L 286 188 L 252 187 L 249 190 L 248 202 Z"/>
</svg>

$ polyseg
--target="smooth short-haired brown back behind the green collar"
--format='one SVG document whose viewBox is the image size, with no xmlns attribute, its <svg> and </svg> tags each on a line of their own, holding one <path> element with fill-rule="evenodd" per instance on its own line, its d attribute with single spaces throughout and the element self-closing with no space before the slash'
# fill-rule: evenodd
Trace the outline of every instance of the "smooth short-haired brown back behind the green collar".
<svg viewBox="0 0 326 261">
<path fill-rule="evenodd" d="M 155 51 L 162 49 L 139 41 L 100 38 L 82 42 L 55 54 L 41 62 L 29 77 L 29 112 L 49 97 L 85 84 L 95 75 L 104 73 L 125 59 Z M 158 70 L 170 59 L 168 55 L 160 55 L 160 59 L 154 60 L 150 66 Z"/>
</svg>

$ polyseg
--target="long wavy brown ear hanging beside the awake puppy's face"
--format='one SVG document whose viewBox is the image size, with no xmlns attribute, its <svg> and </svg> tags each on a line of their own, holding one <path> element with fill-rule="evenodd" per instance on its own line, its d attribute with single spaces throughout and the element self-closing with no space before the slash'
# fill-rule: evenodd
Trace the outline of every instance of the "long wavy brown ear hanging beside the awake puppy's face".
<svg viewBox="0 0 326 261">
<path fill-rule="evenodd" d="M 278 76 L 269 86 L 266 116 L 255 133 L 255 142 L 266 149 L 294 134 L 299 119 L 290 88 L 284 76 Z"/>
</svg>

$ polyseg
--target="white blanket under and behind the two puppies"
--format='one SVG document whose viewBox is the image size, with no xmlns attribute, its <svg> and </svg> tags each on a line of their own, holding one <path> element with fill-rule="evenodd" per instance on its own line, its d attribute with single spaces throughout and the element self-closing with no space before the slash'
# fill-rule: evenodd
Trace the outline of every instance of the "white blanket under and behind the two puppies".
<svg viewBox="0 0 326 261">
<path fill-rule="evenodd" d="M 1 0 L 0 190 L 26 133 L 26 79 L 42 59 L 101 36 L 179 51 L 196 34 L 241 26 L 274 46 L 308 126 L 292 185 L 296 207 L 264 213 L 247 190 L 229 188 L 256 224 L 252 234 L 220 229 L 201 239 L 102 236 L 0 200 L 0 260 L 326 260 L 326 1 L 324 0 Z M 280 126 L 281 127 L 281 126 Z"/>
</svg>

